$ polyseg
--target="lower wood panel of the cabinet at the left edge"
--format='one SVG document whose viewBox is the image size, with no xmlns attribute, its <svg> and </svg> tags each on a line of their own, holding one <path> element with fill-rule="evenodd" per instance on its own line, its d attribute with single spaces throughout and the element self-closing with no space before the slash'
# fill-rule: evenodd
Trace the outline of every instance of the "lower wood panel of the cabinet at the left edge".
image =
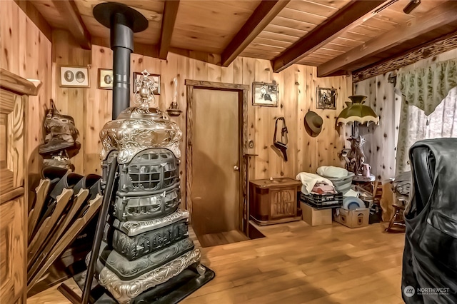
<svg viewBox="0 0 457 304">
<path fill-rule="evenodd" d="M 25 278 L 24 196 L 0 205 L 1 303 L 23 303 Z"/>
</svg>

